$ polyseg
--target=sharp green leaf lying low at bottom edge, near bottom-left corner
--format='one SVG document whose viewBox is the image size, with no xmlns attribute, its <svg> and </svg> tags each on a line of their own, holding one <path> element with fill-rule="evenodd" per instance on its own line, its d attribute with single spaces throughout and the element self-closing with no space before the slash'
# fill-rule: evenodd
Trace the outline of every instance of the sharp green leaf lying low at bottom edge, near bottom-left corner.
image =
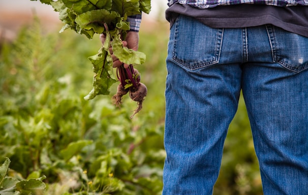
<svg viewBox="0 0 308 195">
<path fill-rule="evenodd" d="M 33 194 L 33 195 L 44 194 L 46 190 L 46 184 L 42 182 L 43 179 L 46 179 L 46 176 L 43 176 L 39 179 L 29 179 L 27 181 L 20 181 L 16 183 L 16 190 L 20 191 L 21 194 Z"/>
</svg>

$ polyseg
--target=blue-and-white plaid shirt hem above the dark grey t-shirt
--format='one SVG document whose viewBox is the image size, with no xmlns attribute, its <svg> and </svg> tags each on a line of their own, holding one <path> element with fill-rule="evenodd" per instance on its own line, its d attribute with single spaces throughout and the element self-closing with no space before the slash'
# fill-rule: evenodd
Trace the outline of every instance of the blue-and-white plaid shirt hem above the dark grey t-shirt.
<svg viewBox="0 0 308 195">
<path fill-rule="evenodd" d="M 268 6 L 308 6 L 308 0 L 168 0 L 168 5 L 174 3 L 189 5 L 200 9 L 212 8 L 216 6 L 227 6 L 237 4 L 262 4 Z"/>
</svg>

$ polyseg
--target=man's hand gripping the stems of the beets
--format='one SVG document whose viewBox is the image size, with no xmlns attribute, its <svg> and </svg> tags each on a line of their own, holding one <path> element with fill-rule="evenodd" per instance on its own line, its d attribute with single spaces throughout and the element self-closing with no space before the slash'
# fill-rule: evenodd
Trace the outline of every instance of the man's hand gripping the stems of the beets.
<svg viewBox="0 0 308 195">
<path fill-rule="evenodd" d="M 104 34 L 100 35 L 100 40 L 102 44 L 105 43 L 106 37 Z M 139 33 L 135 31 L 129 31 L 127 33 L 126 40 L 122 42 L 124 47 L 128 47 L 129 49 L 133 49 L 135 51 L 138 50 L 138 43 L 139 43 Z M 121 66 L 122 62 L 113 55 L 112 48 L 109 48 L 112 60 L 113 60 L 113 68 Z M 124 64 L 124 68 L 128 68 L 129 64 Z"/>
</svg>

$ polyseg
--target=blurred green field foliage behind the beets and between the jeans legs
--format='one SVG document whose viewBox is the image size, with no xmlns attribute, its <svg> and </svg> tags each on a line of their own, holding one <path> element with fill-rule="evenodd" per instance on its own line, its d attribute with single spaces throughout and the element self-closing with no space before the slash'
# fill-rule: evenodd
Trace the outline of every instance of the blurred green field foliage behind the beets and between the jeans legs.
<svg viewBox="0 0 308 195">
<path fill-rule="evenodd" d="M 161 194 L 168 32 L 165 22 L 140 30 L 147 60 L 136 68 L 148 95 L 132 120 L 136 103 L 129 97 L 121 108 L 112 104 L 116 85 L 109 96 L 83 100 L 92 88 L 87 57 L 99 50 L 98 36 L 46 34 L 35 18 L 14 41 L 1 40 L 0 163 L 11 159 L 8 176 L 45 175 L 46 194 Z M 214 194 L 262 194 L 242 98 Z"/>
</svg>

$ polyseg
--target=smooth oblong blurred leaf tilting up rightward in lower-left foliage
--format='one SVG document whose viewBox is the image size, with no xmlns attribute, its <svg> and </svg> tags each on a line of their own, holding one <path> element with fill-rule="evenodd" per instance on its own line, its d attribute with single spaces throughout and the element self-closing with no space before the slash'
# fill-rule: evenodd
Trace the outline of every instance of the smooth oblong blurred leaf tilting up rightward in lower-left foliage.
<svg viewBox="0 0 308 195">
<path fill-rule="evenodd" d="M 63 156 L 64 160 L 69 160 L 74 155 L 82 150 L 83 147 L 90 145 L 93 143 L 91 140 L 79 140 L 77 142 L 71 142 L 67 148 L 60 151 L 61 155 Z"/>
</svg>

